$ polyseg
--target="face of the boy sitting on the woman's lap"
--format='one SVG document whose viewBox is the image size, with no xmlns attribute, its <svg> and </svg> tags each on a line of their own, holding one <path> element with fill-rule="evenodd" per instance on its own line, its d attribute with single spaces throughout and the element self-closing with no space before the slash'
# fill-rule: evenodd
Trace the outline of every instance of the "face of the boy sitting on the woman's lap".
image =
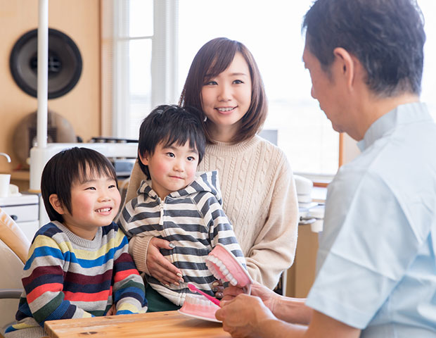
<svg viewBox="0 0 436 338">
<path fill-rule="evenodd" d="M 195 179 L 198 166 L 198 151 L 186 142 L 183 146 L 171 144 L 156 146 L 153 155 L 140 156 L 143 165 L 148 165 L 151 187 L 160 199 L 177 190 L 184 189 Z"/>
</svg>

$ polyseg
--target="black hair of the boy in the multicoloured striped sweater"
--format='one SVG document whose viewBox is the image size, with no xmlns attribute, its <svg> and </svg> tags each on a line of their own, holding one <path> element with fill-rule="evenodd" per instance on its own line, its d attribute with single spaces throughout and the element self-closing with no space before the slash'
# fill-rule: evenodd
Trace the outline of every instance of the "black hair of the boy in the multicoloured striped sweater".
<svg viewBox="0 0 436 338">
<path fill-rule="evenodd" d="M 86 171 L 88 170 L 88 171 Z M 58 195 L 60 204 L 71 213 L 71 187 L 74 182 L 84 182 L 86 173 L 106 175 L 117 182 L 112 163 L 98 151 L 78 148 L 60 151 L 46 163 L 41 176 L 41 194 L 50 220 L 63 222 L 63 216 L 50 203 L 50 195 Z"/>
</svg>

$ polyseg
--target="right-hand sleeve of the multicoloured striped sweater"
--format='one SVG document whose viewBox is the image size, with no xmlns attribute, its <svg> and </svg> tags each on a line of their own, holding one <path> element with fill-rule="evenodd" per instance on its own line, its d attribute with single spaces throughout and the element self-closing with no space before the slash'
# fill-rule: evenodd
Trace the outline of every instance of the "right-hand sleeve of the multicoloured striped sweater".
<svg viewBox="0 0 436 338">
<path fill-rule="evenodd" d="M 142 277 L 128 252 L 129 242 L 122 232 L 117 232 L 113 265 L 113 299 L 117 315 L 144 313 L 147 310 L 145 287 Z"/>
</svg>

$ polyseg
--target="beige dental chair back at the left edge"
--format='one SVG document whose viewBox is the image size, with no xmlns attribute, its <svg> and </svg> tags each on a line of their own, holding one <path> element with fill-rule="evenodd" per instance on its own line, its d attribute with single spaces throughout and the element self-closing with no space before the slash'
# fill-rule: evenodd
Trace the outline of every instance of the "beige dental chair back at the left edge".
<svg viewBox="0 0 436 338">
<path fill-rule="evenodd" d="M 0 337 L 15 320 L 29 248 L 30 242 L 23 231 L 0 208 Z"/>
</svg>

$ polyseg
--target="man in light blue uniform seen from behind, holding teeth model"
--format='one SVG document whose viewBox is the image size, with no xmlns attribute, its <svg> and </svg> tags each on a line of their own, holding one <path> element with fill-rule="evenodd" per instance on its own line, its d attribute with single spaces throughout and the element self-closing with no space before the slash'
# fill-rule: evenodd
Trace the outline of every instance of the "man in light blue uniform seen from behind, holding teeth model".
<svg viewBox="0 0 436 338">
<path fill-rule="evenodd" d="M 318 0 L 303 26 L 312 96 L 361 155 L 329 184 L 305 304 L 259 284 L 260 298 L 229 288 L 224 299 L 239 295 L 217 318 L 233 337 L 436 337 L 436 125 L 419 101 L 421 11 L 414 0 Z"/>
</svg>

